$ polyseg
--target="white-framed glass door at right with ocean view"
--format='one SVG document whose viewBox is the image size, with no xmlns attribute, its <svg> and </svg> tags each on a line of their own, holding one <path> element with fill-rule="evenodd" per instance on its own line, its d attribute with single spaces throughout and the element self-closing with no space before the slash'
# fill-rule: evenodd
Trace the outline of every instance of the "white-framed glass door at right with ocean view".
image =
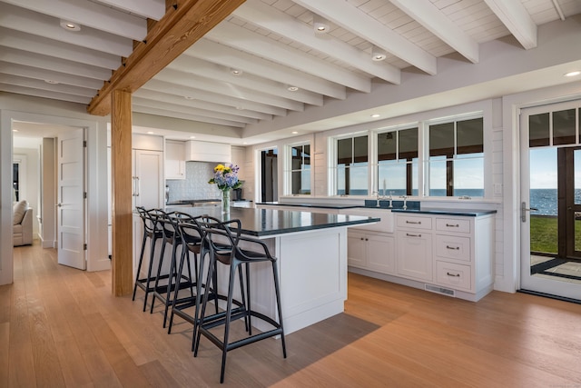
<svg viewBox="0 0 581 388">
<path fill-rule="evenodd" d="M 521 290 L 581 299 L 581 102 L 521 114 Z M 577 176 L 578 175 L 578 176 Z"/>
</svg>

